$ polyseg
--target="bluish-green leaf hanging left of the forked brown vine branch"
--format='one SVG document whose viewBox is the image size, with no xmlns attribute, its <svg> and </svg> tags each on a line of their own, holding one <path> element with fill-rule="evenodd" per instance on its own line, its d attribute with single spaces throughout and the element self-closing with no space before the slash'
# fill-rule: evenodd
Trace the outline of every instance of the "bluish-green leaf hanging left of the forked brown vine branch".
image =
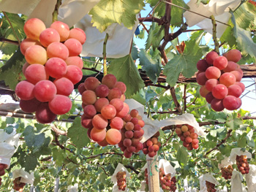
<svg viewBox="0 0 256 192">
<path fill-rule="evenodd" d="M 151 58 L 151 55 L 148 55 L 148 53 L 143 49 L 140 50 L 139 55 L 142 69 L 146 71 L 149 79 L 156 83 L 161 72 L 162 58 L 160 56 L 157 58 Z"/>
</svg>

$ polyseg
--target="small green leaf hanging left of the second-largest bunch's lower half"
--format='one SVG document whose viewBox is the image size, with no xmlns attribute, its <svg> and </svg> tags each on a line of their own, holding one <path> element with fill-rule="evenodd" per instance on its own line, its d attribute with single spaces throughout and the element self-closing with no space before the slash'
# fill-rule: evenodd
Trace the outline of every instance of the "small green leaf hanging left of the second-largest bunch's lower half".
<svg viewBox="0 0 256 192">
<path fill-rule="evenodd" d="M 81 118 L 75 118 L 74 123 L 67 131 L 67 137 L 78 147 L 78 149 L 85 147 L 90 139 L 87 136 L 87 128 L 81 126 Z"/>
</svg>

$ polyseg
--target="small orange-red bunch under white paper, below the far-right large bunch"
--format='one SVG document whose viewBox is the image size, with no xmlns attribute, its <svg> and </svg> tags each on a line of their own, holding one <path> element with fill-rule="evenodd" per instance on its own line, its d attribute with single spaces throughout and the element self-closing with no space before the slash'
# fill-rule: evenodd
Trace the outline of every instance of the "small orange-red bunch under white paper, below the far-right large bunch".
<svg viewBox="0 0 256 192">
<path fill-rule="evenodd" d="M 196 150 L 199 147 L 198 135 L 195 133 L 193 126 L 189 126 L 188 124 L 176 125 L 175 131 L 183 142 L 183 146 L 187 147 L 188 150 Z"/>
</svg>

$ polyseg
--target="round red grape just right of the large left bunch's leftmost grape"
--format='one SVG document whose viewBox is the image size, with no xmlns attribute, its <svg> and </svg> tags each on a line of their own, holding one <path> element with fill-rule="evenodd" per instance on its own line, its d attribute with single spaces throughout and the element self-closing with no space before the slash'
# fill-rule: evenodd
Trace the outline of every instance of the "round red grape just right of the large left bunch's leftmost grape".
<svg viewBox="0 0 256 192">
<path fill-rule="evenodd" d="M 51 101 L 56 93 L 56 86 L 50 80 L 42 80 L 34 85 L 34 96 L 37 98 L 38 101 Z"/>
</svg>

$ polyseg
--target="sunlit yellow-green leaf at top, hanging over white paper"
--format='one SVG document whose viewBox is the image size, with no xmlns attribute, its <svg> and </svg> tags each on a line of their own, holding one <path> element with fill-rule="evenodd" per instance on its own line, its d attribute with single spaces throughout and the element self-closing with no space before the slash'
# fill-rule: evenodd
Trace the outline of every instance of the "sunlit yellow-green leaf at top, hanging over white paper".
<svg viewBox="0 0 256 192">
<path fill-rule="evenodd" d="M 91 23 L 100 32 L 105 31 L 112 23 L 121 23 L 132 29 L 135 25 L 136 15 L 145 6 L 143 0 L 101 0 L 91 9 Z"/>
</svg>

